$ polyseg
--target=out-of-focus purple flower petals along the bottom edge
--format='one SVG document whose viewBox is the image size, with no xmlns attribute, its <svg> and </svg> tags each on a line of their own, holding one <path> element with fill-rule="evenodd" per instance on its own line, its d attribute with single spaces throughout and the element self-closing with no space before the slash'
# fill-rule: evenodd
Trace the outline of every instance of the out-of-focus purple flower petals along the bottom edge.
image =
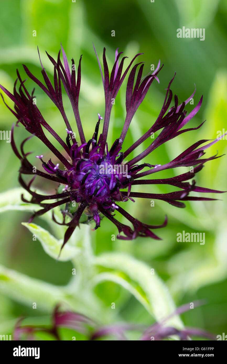
<svg viewBox="0 0 227 364">
<path fill-rule="evenodd" d="M 200 336 L 208 340 L 215 340 L 214 335 L 198 328 L 185 328 L 179 330 L 174 327 L 165 326 L 165 323 L 169 318 L 188 311 L 189 309 L 190 304 L 183 305 L 177 308 L 175 312 L 166 317 L 163 321 L 146 328 L 145 325 L 128 323 L 100 326 L 94 320 L 91 320 L 89 317 L 80 313 L 60 311 L 59 305 L 57 305 L 52 315 L 52 325 L 50 327 L 36 327 L 32 325 L 21 326 L 22 319 L 20 318 L 15 326 L 13 340 L 22 340 L 24 336 L 27 340 L 35 340 L 35 334 L 38 332 L 49 333 L 54 336 L 55 340 L 61 340 L 58 332 L 58 329 L 61 327 L 73 329 L 75 332 L 82 333 L 87 336 L 89 340 L 98 340 L 113 336 L 118 341 L 124 341 L 128 340 L 126 333 L 130 331 L 143 332 L 139 340 L 147 341 L 169 339 L 169 337 L 173 335 L 178 336 L 180 340 L 190 340 L 190 336 Z"/>
</svg>

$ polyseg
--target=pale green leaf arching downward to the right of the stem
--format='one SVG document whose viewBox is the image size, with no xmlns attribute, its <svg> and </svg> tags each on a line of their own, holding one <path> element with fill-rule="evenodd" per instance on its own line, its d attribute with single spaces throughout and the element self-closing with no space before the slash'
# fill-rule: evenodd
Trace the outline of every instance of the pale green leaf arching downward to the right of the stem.
<svg viewBox="0 0 227 364">
<path fill-rule="evenodd" d="M 100 273 L 95 276 L 94 285 L 105 280 L 120 284 L 128 289 L 157 321 L 162 320 L 175 310 L 168 288 L 156 272 L 152 274 L 153 272 L 144 262 L 127 254 L 105 253 L 95 257 L 94 263 L 113 269 L 111 272 Z M 179 316 L 171 318 L 168 324 L 178 328 L 183 327 Z"/>
</svg>

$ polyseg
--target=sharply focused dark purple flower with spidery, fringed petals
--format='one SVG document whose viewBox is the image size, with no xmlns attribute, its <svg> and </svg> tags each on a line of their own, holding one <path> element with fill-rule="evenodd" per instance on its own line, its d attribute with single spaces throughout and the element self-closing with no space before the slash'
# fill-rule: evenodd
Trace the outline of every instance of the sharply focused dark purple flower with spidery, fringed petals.
<svg viewBox="0 0 227 364">
<path fill-rule="evenodd" d="M 72 59 L 72 67 L 70 66 L 66 57 L 66 54 L 62 48 L 63 54 L 63 64 L 60 60 L 60 51 L 58 54 L 58 59 L 55 61 L 50 55 L 47 54 L 48 58 L 54 66 L 54 84 L 51 83 L 48 75 L 42 65 L 42 75 L 46 86 L 41 83 L 28 68 L 23 65 L 24 70 L 29 78 L 31 78 L 38 86 L 47 94 L 47 96 L 52 100 L 52 102 L 59 109 L 62 118 L 65 122 L 65 130 L 62 130 L 62 135 L 66 135 L 66 142 L 52 129 L 52 127 L 43 118 L 41 112 L 39 111 L 36 104 L 33 102 L 34 90 L 30 94 L 24 85 L 24 81 L 21 79 L 19 71 L 17 70 L 17 80 L 13 89 L 13 94 L 6 90 L 3 86 L 1 89 L 5 92 L 7 96 L 15 103 L 14 109 L 12 110 L 9 106 L 9 110 L 15 115 L 17 119 L 16 126 L 19 123 L 30 132 L 32 135 L 38 137 L 55 155 L 58 159 L 58 163 L 54 164 L 51 159 L 45 161 L 43 155 L 36 156 L 42 162 L 43 170 L 36 169 L 34 171 L 33 165 L 28 161 L 27 156 L 30 153 L 24 151 L 24 144 L 29 139 L 25 139 L 20 147 L 20 152 L 18 151 L 15 141 L 14 141 L 14 126 L 12 127 L 12 148 L 16 156 L 21 161 L 21 167 L 19 171 L 19 181 L 20 184 L 26 189 L 32 196 L 31 201 L 27 201 L 23 198 L 23 201 L 38 203 L 42 209 L 35 212 L 30 218 L 30 222 L 34 217 L 40 216 L 46 211 L 53 209 L 56 206 L 66 204 L 66 209 L 63 211 L 63 225 L 68 226 L 65 236 L 64 244 L 69 240 L 71 234 L 73 233 L 75 227 L 79 225 L 81 215 L 85 211 L 88 215 L 88 221 L 93 217 L 95 221 L 94 229 L 100 226 L 101 216 L 104 215 L 110 221 L 112 221 L 118 228 L 119 234 L 118 239 L 131 240 L 137 236 L 150 236 L 154 239 L 159 239 L 156 234 L 152 232 L 151 229 L 156 229 L 163 227 L 167 224 L 167 218 L 160 226 L 147 225 L 142 223 L 132 217 L 128 212 L 122 208 L 121 202 L 126 202 L 129 199 L 134 202 L 134 198 L 150 198 L 150 199 L 161 199 L 170 203 L 173 206 L 185 207 L 183 201 L 204 201 L 212 200 L 212 198 L 207 197 L 189 197 L 191 191 L 194 192 L 208 192 L 208 193 L 221 193 L 222 191 L 211 190 L 203 187 L 198 187 L 193 180 L 192 183 L 185 182 L 191 179 L 195 174 L 203 168 L 205 162 L 218 158 L 216 155 L 210 158 L 201 158 L 205 152 L 204 150 L 210 147 L 212 144 L 216 143 L 219 139 L 206 144 L 201 147 L 203 143 L 208 140 L 203 139 L 192 146 L 188 147 L 183 153 L 178 155 L 172 161 L 164 165 L 152 165 L 150 163 L 141 163 L 140 161 L 148 155 L 161 144 L 177 137 L 178 135 L 200 128 L 201 125 L 195 128 L 182 128 L 193 118 L 193 116 L 199 111 L 202 97 L 197 104 L 197 106 L 188 114 L 184 110 L 185 105 L 195 94 L 193 94 L 182 104 L 179 105 L 178 98 L 174 96 L 174 106 L 170 108 L 172 101 L 172 91 L 170 89 L 171 83 L 168 85 L 163 107 L 161 108 L 160 114 L 157 117 L 156 122 L 153 124 L 149 130 L 142 135 L 136 142 L 133 143 L 127 150 L 123 147 L 123 142 L 130 126 L 130 122 L 140 106 L 142 100 L 144 99 L 146 93 L 149 90 L 150 85 L 153 80 L 158 80 L 157 75 L 160 72 L 163 65 L 160 67 L 160 62 L 158 67 L 153 72 L 153 74 L 147 75 L 142 78 L 142 71 L 144 64 L 142 62 L 137 63 L 132 67 L 126 88 L 126 118 L 122 128 L 121 135 L 113 145 L 109 148 L 107 146 L 107 132 L 110 122 L 110 113 L 113 106 L 113 100 L 116 98 L 118 90 L 121 87 L 133 61 L 140 55 L 137 54 L 129 66 L 126 68 L 125 72 L 122 74 L 123 64 L 126 57 L 123 57 L 120 64 L 119 58 L 121 53 L 116 51 L 116 58 L 114 66 L 109 72 L 109 68 L 106 62 L 105 48 L 103 50 L 103 69 L 102 73 L 101 64 L 98 64 L 101 71 L 103 87 L 105 92 L 105 115 L 104 120 L 100 114 L 98 114 L 98 121 L 96 126 L 94 126 L 94 132 L 91 133 L 90 139 L 85 140 L 85 135 L 82 128 L 81 119 L 79 116 L 78 109 L 78 99 L 79 90 L 81 85 L 81 58 L 79 59 L 79 66 L 77 70 L 77 77 L 75 72 L 75 64 Z M 96 51 L 95 54 L 97 55 Z M 81 56 L 82 57 L 82 56 Z M 138 72 L 137 72 L 138 68 Z M 137 76 L 136 76 L 137 72 Z M 19 83 L 18 91 L 16 89 L 16 84 Z M 75 137 L 73 134 L 71 125 L 64 111 L 62 102 L 62 85 L 66 90 L 66 93 L 71 102 L 73 112 L 75 115 L 75 120 L 78 127 L 78 136 Z M 102 133 L 99 134 L 99 126 L 102 126 Z M 43 128 L 45 128 L 50 134 L 58 141 L 64 153 L 61 153 L 46 137 Z M 159 135 L 152 141 L 152 143 L 137 157 L 130 159 L 125 162 L 125 158 L 136 149 L 143 141 L 150 137 L 151 133 L 160 131 Z M 196 166 L 193 173 L 184 173 L 172 178 L 165 179 L 141 179 L 146 175 L 150 175 L 165 169 L 172 169 L 180 166 Z M 34 180 L 32 178 L 30 183 L 26 183 L 21 177 L 22 174 L 38 175 L 43 178 L 50 179 L 63 186 L 61 191 L 54 195 L 40 195 L 31 190 L 31 183 Z M 142 193 L 131 191 L 134 185 L 152 185 L 152 184 L 167 184 L 175 186 L 180 190 L 165 193 L 165 194 L 154 194 L 154 193 Z M 125 191 L 125 189 L 127 191 Z M 124 191 L 123 191 L 124 190 Z M 46 200 L 56 200 L 52 203 L 43 202 Z M 78 207 L 76 211 L 70 212 L 67 210 L 67 206 L 71 201 L 75 201 Z M 119 204 L 120 203 L 120 204 Z M 124 215 L 129 222 L 132 223 L 133 227 L 127 226 L 119 222 L 113 215 L 113 212 L 117 211 L 118 214 Z M 70 213 L 71 221 L 66 222 L 65 217 Z M 53 215 L 55 222 L 56 219 Z M 59 223 L 59 222 L 57 222 Z M 124 235 L 121 235 L 123 233 Z"/>
</svg>

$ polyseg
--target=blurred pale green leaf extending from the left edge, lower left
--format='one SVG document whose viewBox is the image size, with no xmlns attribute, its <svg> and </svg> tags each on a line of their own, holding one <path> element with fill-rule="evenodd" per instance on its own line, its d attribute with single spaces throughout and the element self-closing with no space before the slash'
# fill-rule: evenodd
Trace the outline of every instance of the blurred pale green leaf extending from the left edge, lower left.
<svg viewBox="0 0 227 364">
<path fill-rule="evenodd" d="M 56 268 L 57 269 L 57 268 Z M 0 265 L 0 293 L 30 308 L 36 303 L 38 310 L 52 312 L 56 304 L 66 305 L 75 312 L 106 320 L 113 314 L 87 296 L 83 289 L 70 292 L 67 286 L 56 286 Z M 85 287 L 83 287 L 85 288 Z M 112 310 L 111 310 L 112 311 Z M 1 328 L 1 327 L 0 327 Z M 3 331 L 4 332 L 4 331 Z"/>
</svg>

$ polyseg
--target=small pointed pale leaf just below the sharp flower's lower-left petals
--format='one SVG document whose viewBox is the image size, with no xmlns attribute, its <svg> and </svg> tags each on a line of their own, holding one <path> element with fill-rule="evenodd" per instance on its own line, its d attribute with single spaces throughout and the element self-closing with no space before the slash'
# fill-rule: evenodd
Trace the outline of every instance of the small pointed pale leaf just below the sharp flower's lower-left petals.
<svg viewBox="0 0 227 364">
<path fill-rule="evenodd" d="M 34 223 L 22 222 L 22 225 L 26 226 L 28 230 L 33 234 L 33 236 L 39 239 L 40 243 L 44 251 L 52 258 L 58 258 L 60 248 L 62 246 L 63 241 L 56 239 L 52 236 L 47 230 L 43 229 Z M 70 245 L 68 242 L 62 252 L 60 254 L 59 260 L 60 261 L 67 261 L 71 260 L 75 256 L 77 256 L 81 252 L 81 249 Z"/>
</svg>

